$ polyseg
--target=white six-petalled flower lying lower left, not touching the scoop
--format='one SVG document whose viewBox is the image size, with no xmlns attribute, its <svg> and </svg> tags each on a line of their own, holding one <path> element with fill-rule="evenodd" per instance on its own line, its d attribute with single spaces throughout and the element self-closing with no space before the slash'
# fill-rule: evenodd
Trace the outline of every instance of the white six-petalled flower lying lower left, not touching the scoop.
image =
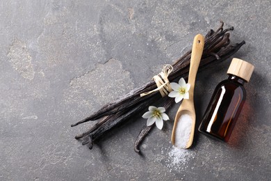
<svg viewBox="0 0 271 181">
<path fill-rule="evenodd" d="M 167 114 L 164 113 L 164 107 L 149 107 L 149 111 L 143 114 L 142 118 L 147 119 L 147 126 L 153 125 L 154 122 L 158 129 L 162 129 L 163 127 L 163 120 L 169 120 Z"/>
</svg>

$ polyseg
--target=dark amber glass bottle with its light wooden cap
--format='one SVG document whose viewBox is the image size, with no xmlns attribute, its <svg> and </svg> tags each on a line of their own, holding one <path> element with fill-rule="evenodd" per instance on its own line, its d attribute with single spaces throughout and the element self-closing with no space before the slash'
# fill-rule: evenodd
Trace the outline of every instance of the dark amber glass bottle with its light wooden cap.
<svg viewBox="0 0 271 181">
<path fill-rule="evenodd" d="M 254 66 L 233 58 L 227 74 L 229 78 L 215 88 L 211 101 L 199 125 L 199 132 L 229 141 L 233 127 L 245 102 L 245 82 L 252 76 Z"/>
</svg>

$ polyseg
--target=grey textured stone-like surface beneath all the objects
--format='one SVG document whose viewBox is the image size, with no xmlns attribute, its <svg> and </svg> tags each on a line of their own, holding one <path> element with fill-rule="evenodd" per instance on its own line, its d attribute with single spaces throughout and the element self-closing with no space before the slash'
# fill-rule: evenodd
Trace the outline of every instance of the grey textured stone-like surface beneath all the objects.
<svg viewBox="0 0 271 181">
<path fill-rule="evenodd" d="M 0 180 L 270 180 L 271 3 L 266 1 L 1 1 Z M 172 165 L 170 134 L 133 142 L 146 120 L 133 118 L 93 150 L 70 127 L 151 79 L 191 47 L 197 33 L 234 26 L 235 55 L 255 65 L 247 103 L 229 143 L 195 135 Z M 200 72 L 198 118 L 230 59 Z M 199 122 L 200 119 L 197 120 Z"/>
</svg>

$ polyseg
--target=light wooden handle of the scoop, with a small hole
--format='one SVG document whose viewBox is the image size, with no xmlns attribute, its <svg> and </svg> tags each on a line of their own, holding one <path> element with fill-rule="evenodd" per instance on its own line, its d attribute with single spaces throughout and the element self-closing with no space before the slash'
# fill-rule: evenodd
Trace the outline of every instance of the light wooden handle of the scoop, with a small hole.
<svg viewBox="0 0 271 181">
<path fill-rule="evenodd" d="M 198 34 L 197 36 L 195 36 L 193 41 L 190 60 L 188 83 L 191 85 L 191 90 L 194 90 L 197 69 L 199 68 L 199 62 L 202 58 L 203 49 L 204 49 L 204 36 Z"/>
</svg>

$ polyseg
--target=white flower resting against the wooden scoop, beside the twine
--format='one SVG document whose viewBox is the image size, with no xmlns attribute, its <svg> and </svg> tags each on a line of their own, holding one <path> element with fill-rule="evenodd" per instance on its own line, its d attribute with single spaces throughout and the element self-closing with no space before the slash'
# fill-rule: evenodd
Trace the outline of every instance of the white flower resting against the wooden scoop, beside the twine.
<svg viewBox="0 0 271 181">
<path fill-rule="evenodd" d="M 175 102 L 178 103 L 183 99 L 189 99 L 189 89 L 190 84 L 186 84 L 186 81 L 181 78 L 179 80 L 179 84 L 176 84 L 175 82 L 170 83 L 171 88 L 173 91 L 169 93 L 169 97 L 175 97 Z"/>
</svg>

